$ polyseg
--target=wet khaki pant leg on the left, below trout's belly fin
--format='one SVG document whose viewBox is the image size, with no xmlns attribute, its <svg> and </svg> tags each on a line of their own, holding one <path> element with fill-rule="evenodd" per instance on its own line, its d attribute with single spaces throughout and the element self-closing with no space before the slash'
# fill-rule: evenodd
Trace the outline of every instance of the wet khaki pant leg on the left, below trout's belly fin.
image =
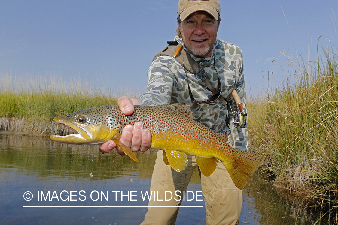
<svg viewBox="0 0 338 225">
<path fill-rule="evenodd" d="M 187 190 L 192 172 L 196 168 L 196 164 L 191 163 L 191 156 L 188 156 L 188 164 L 185 170 L 176 172 L 170 166 L 163 162 L 162 150 L 157 153 L 154 171 L 151 176 L 150 191 L 156 193 L 155 200 L 152 195 L 148 203 L 148 212 L 144 217 L 141 225 L 173 225 L 175 224 L 178 207 L 149 207 L 149 206 L 179 206 L 183 199 L 183 191 Z M 165 191 L 166 196 L 165 196 Z M 175 195 L 179 195 L 180 197 Z M 179 192 L 178 192 L 179 191 Z M 158 193 L 158 196 L 157 196 Z M 170 201 L 165 201 L 171 198 Z M 181 194 L 179 194 L 181 193 Z M 179 201 L 177 201 L 179 200 Z M 181 200 L 180 200 L 181 199 Z M 160 201 L 162 200 L 162 201 Z"/>
</svg>

